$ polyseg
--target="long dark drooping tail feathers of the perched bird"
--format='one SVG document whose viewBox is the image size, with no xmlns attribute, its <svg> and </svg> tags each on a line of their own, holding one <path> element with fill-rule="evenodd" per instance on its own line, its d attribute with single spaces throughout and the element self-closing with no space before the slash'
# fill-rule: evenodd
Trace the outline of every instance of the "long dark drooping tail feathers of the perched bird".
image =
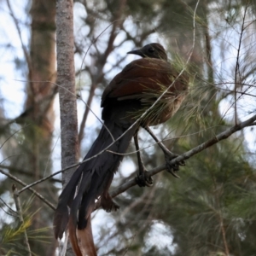
<svg viewBox="0 0 256 256">
<path fill-rule="evenodd" d="M 125 123 L 124 121 L 105 120 L 99 136 L 96 138 L 88 154 L 84 157 L 84 160 L 99 154 L 113 143 L 113 138 L 117 139 L 126 131 L 123 137 L 108 148 L 112 152 L 124 154 L 136 131 L 135 126 L 127 131 L 130 126 L 131 123 L 128 124 L 128 122 Z M 76 237 L 76 228 L 78 230 L 84 230 L 87 224 L 90 226 L 90 213 L 94 210 L 95 201 L 99 197 L 101 197 L 102 207 L 106 211 L 110 212 L 118 208 L 108 195 L 108 189 L 112 182 L 114 172 L 116 172 L 120 161 L 123 159 L 123 156 L 119 154 L 104 151 L 95 158 L 81 164 L 76 172 L 74 172 L 73 177 L 71 177 L 60 195 L 55 211 L 54 226 L 56 238 L 63 236 L 68 223 L 71 241 L 75 240 L 73 247 L 77 247 L 78 241 L 74 238 Z M 74 197 L 79 182 L 78 193 Z M 68 207 L 70 207 L 70 214 L 68 213 Z M 78 212 L 79 218 L 77 218 Z M 87 228 L 84 232 L 91 234 L 91 230 L 89 232 Z M 89 240 L 93 241 L 92 236 Z"/>
</svg>

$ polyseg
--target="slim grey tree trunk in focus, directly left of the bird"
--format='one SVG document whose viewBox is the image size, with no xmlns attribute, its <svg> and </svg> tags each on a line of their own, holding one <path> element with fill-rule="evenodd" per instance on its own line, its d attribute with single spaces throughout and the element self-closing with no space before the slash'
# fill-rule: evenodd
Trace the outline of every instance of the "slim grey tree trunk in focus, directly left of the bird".
<svg viewBox="0 0 256 256">
<path fill-rule="evenodd" d="M 56 5 L 57 84 L 61 109 L 61 168 L 74 164 L 79 158 L 78 119 L 73 60 L 73 1 L 58 0 Z M 73 170 L 74 171 L 74 170 Z M 73 172 L 63 172 L 63 186 Z M 67 255 L 73 255 L 70 246 Z"/>
</svg>

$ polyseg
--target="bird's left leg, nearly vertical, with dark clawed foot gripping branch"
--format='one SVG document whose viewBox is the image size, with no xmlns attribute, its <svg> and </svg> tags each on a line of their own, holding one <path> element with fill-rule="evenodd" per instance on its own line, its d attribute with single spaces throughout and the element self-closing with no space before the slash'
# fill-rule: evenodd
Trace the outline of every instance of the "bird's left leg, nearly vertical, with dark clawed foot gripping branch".
<svg viewBox="0 0 256 256">
<path fill-rule="evenodd" d="M 137 139 L 137 132 L 135 133 L 133 138 L 134 138 L 135 148 L 137 150 L 137 162 L 138 162 L 138 174 L 136 177 L 137 184 L 140 187 L 145 187 L 145 186 L 151 187 L 153 185 L 153 179 L 152 177 L 147 176 L 148 171 L 143 165 L 143 160 L 141 157 L 140 148 L 139 148 L 138 139 Z"/>
</svg>

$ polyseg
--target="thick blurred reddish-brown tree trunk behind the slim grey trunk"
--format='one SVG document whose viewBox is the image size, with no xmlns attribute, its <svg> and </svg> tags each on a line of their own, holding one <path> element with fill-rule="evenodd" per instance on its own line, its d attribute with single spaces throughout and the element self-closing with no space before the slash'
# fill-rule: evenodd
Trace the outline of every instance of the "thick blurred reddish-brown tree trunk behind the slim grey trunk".
<svg viewBox="0 0 256 256">
<path fill-rule="evenodd" d="M 32 16 L 30 58 L 27 59 L 29 73 L 27 84 L 26 109 L 30 109 L 26 122 L 26 145 L 28 149 L 27 166 L 30 166 L 32 181 L 38 180 L 51 171 L 50 152 L 55 114 L 53 100 L 55 96 L 55 1 L 33 0 L 30 11 Z M 55 189 L 45 189 L 46 184 L 37 186 L 39 193 L 46 198 L 56 196 Z M 44 188 L 44 189 L 43 189 Z M 41 211 L 38 212 L 38 209 Z M 50 224 L 52 210 L 42 208 L 42 202 L 35 198 L 32 204 L 34 215 L 33 230 Z M 42 214 L 44 212 L 44 214 Z M 42 217 L 44 216 L 44 217 Z M 51 232 L 49 230 L 49 236 Z M 49 245 L 30 241 L 32 252 L 51 255 Z M 53 245 L 53 250 L 55 246 Z"/>
</svg>

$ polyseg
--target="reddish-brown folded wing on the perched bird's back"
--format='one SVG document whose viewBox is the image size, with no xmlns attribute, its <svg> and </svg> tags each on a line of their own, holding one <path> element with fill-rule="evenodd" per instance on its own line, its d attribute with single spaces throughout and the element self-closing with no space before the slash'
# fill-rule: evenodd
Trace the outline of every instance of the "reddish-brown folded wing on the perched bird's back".
<svg viewBox="0 0 256 256">
<path fill-rule="evenodd" d="M 108 100 L 143 97 L 148 91 L 160 93 L 172 84 L 177 76 L 172 65 L 159 59 L 139 59 L 132 61 L 108 84 L 102 95 L 102 107 Z M 178 80 L 169 89 L 169 93 L 185 90 Z"/>
</svg>

